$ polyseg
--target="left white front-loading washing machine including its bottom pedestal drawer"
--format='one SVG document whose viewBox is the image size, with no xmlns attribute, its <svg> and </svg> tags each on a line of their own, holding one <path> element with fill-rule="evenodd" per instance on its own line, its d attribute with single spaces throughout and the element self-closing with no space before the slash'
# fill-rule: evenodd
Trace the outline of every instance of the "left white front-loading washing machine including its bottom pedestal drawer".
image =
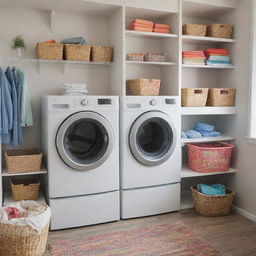
<svg viewBox="0 0 256 256">
<path fill-rule="evenodd" d="M 51 229 L 120 219 L 118 97 L 47 96 L 42 130 Z"/>
</svg>

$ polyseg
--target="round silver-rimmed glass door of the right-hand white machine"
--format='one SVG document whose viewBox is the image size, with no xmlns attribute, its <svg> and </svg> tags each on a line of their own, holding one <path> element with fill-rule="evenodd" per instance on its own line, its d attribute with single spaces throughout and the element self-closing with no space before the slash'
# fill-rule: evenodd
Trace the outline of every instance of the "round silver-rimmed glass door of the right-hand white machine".
<svg viewBox="0 0 256 256">
<path fill-rule="evenodd" d="M 168 115 L 150 111 L 133 123 L 129 143 L 133 156 L 146 166 L 160 165 L 172 155 L 176 130 Z"/>
</svg>

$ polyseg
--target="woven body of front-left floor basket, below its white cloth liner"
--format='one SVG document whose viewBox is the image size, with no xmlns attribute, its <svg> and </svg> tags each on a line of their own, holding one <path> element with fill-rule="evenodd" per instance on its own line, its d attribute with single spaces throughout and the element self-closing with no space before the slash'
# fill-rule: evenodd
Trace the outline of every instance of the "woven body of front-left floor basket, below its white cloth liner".
<svg viewBox="0 0 256 256">
<path fill-rule="evenodd" d="M 40 233 L 30 226 L 0 224 L 1 256 L 42 256 L 44 254 L 49 224 Z"/>
</svg>

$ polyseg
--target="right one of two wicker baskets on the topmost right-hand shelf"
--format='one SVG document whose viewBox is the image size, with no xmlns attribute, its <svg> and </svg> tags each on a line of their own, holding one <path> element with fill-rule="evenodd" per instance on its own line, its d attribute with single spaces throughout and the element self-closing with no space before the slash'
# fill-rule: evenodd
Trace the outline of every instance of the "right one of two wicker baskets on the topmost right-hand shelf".
<svg viewBox="0 0 256 256">
<path fill-rule="evenodd" d="M 233 26 L 230 24 L 211 24 L 207 26 L 206 35 L 210 37 L 232 38 Z"/>
</svg>

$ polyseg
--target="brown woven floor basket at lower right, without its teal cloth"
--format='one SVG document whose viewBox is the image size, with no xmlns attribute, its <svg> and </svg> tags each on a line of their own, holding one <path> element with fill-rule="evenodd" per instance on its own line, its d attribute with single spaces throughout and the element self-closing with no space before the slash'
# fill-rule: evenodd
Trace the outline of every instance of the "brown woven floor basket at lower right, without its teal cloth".
<svg viewBox="0 0 256 256">
<path fill-rule="evenodd" d="M 226 195 L 223 196 L 208 196 L 200 193 L 194 185 L 191 187 L 191 191 L 195 209 L 198 213 L 212 217 L 230 214 L 235 197 L 235 192 L 232 190 L 226 189 Z"/>
</svg>

